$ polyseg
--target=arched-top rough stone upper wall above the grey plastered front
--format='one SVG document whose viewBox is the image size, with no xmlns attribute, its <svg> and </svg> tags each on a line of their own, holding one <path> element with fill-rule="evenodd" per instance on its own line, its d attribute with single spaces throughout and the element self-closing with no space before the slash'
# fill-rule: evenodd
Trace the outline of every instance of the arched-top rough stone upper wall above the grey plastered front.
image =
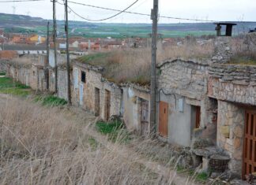
<svg viewBox="0 0 256 185">
<path fill-rule="evenodd" d="M 207 66 L 202 61 L 165 61 L 158 66 L 158 89 L 201 100 L 207 93 Z"/>
</svg>

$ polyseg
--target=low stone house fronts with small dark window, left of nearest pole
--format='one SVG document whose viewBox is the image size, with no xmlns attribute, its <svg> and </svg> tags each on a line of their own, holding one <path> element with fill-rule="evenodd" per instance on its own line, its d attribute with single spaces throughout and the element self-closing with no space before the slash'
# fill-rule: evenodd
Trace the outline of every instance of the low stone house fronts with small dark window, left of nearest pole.
<svg viewBox="0 0 256 185">
<path fill-rule="evenodd" d="M 102 75 L 104 68 L 73 61 L 73 105 L 100 119 L 123 117 L 130 131 L 149 134 L 149 90 L 134 84 L 118 85 Z"/>
</svg>

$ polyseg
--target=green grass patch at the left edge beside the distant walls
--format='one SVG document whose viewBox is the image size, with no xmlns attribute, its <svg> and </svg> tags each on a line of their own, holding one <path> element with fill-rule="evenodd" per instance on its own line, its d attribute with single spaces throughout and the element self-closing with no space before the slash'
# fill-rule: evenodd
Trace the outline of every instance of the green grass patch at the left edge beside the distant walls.
<svg viewBox="0 0 256 185">
<path fill-rule="evenodd" d="M 0 93 L 28 96 L 28 94 L 31 94 L 31 89 L 30 87 L 15 82 L 8 77 L 2 77 L 0 78 Z"/>
</svg>

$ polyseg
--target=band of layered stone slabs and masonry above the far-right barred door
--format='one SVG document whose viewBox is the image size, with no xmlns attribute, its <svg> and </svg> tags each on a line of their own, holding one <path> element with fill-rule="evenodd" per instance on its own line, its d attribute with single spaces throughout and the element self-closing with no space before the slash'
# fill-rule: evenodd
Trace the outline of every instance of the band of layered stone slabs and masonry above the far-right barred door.
<svg viewBox="0 0 256 185">
<path fill-rule="evenodd" d="M 211 65 L 208 89 L 210 97 L 256 105 L 256 66 Z"/>
</svg>

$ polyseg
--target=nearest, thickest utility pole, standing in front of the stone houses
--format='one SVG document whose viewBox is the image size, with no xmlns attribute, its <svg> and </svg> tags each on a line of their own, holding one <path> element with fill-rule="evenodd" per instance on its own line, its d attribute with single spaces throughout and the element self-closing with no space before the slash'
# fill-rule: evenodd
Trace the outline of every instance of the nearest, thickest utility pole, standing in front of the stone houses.
<svg viewBox="0 0 256 185">
<path fill-rule="evenodd" d="M 158 0 L 154 0 L 151 10 L 152 19 L 152 58 L 150 84 L 150 133 L 156 134 L 156 40 L 158 21 Z"/>
</svg>

